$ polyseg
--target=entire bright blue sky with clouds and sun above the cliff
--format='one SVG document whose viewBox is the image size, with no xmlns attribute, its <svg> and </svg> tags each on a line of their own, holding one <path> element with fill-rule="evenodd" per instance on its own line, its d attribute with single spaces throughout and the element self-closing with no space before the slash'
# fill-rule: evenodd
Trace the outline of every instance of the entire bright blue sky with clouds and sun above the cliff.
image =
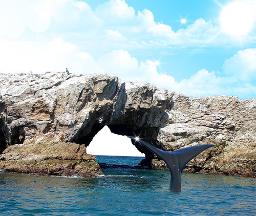
<svg viewBox="0 0 256 216">
<path fill-rule="evenodd" d="M 0 10 L 1 73 L 68 68 L 256 98 L 255 0 L 6 0 Z"/>
</svg>

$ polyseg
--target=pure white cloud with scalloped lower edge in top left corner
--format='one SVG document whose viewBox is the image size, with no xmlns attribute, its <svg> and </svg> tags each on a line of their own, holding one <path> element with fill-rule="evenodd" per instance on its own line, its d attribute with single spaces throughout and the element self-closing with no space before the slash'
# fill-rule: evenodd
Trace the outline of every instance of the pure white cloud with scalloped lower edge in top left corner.
<svg viewBox="0 0 256 216">
<path fill-rule="evenodd" d="M 52 15 L 52 1 L 0 1 L 0 35 L 17 37 L 25 27 L 34 32 L 48 29 Z"/>
</svg>

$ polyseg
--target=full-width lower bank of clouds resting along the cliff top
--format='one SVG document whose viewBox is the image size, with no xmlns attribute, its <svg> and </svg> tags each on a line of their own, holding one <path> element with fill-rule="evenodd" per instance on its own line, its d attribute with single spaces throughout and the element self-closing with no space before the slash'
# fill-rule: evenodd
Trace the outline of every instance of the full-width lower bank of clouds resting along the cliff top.
<svg viewBox="0 0 256 216">
<path fill-rule="evenodd" d="M 114 50 L 95 59 L 78 46 L 55 38 L 52 41 L 0 42 L 2 73 L 65 71 L 93 74 L 115 74 L 123 81 L 146 81 L 158 88 L 175 91 L 187 96 L 238 95 L 255 97 L 256 49 L 237 52 L 225 60 L 224 76 L 202 69 L 179 82 L 173 76 L 160 73 L 152 60 L 138 61 L 128 51 Z"/>
</svg>

